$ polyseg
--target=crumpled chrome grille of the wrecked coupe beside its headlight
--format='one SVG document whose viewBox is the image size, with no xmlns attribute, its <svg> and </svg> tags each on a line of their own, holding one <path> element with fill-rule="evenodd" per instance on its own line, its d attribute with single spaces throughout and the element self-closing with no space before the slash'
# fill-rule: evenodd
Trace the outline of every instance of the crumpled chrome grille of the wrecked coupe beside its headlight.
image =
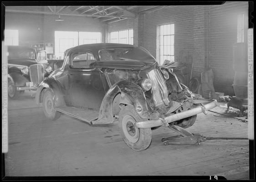
<svg viewBox="0 0 256 182">
<path fill-rule="evenodd" d="M 168 89 L 160 71 L 157 69 L 151 70 L 147 73 L 147 76 L 152 81 L 152 97 L 154 105 L 157 107 L 168 106 Z"/>
</svg>

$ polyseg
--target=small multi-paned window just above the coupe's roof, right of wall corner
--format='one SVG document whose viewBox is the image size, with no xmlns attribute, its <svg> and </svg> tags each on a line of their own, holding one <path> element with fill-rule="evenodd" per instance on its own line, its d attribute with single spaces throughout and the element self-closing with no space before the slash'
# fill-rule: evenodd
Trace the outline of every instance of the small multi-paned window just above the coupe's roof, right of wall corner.
<svg viewBox="0 0 256 182">
<path fill-rule="evenodd" d="M 110 42 L 133 45 L 133 29 L 110 32 Z"/>
</svg>

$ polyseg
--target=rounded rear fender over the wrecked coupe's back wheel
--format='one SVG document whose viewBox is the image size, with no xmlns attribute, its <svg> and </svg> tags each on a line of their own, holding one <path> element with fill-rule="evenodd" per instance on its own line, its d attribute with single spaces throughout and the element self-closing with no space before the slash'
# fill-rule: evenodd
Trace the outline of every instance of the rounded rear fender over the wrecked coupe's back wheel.
<svg viewBox="0 0 256 182">
<path fill-rule="evenodd" d="M 61 91 L 60 84 L 53 78 L 47 78 L 42 81 L 36 90 L 36 104 L 40 104 L 43 100 L 43 95 L 46 89 L 50 90 L 54 95 L 55 106 L 65 106 L 65 100 Z"/>
</svg>

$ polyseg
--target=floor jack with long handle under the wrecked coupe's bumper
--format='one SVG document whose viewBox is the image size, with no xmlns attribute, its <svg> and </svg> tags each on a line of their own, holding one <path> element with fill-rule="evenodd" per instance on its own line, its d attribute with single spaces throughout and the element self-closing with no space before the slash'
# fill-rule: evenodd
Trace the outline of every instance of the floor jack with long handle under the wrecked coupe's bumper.
<svg viewBox="0 0 256 182">
<path fill-rule="evenodd" d="M 223 140 L 248 140 L 248 138 L 243 137 L 204 137 L 198 133 L 190 133 L 189 131 L 184 130 L 182 127 L 176 126 L 174 124 L 169 124 L 168 126 L 171 130 L 179 133 L 179 136 L 171 136 L 168 138 L 162 138 L 161 142 L 167 146 L 168 144 L 176 144 L 176 145 L 193 145 L 198 144 L 200 142 L 205 142 L 206 140 L 215 140 L 215 139 L 223 139 Z"/>
</svg>

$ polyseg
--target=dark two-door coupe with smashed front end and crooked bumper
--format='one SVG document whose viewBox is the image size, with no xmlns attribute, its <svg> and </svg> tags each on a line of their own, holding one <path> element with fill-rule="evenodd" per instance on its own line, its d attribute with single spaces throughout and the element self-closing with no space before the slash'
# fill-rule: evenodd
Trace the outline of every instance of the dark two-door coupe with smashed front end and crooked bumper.
<svg viewBox="0 0 256 182">
<path fill-rule="evenodd" d="M 92 125 L 118 121 L 123 141 L 134 151 L 149 147 L 151 130 L 187 128 L 197 114 L 217 106 L 216 101 L 196 106 L 188 87 L 144 48 L 111 43 L 70 49 L 63 66 L 41 82 L 36 103 L 51 120 L 64 113 Z"/>
</svg>

